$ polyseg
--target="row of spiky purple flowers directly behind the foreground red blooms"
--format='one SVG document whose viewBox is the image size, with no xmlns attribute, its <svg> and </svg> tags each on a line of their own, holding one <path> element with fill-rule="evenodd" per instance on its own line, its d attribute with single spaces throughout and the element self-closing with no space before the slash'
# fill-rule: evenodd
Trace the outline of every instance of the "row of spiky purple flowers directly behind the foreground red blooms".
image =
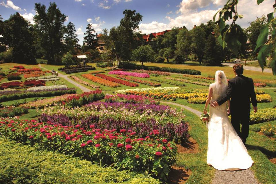
<svg viewBox="0 0 276 184">
<path fill-rule="evenodd" d="M 155 137 L 165 137 L 170 141 L 184 145 L 189 139 L 188 125 L 185 122 L 179 124 L 166 123 L 161 125 L 154 118 L 147 119 L 147 122 L 133 124 L 131 121 L 127 121 L 123 118 L 114 119 L 107 118 L 100 120 L 99 116 L 89 116 L 86 119 L 78 120 L 74 117 L 70 120 L 67 116 L 61 114 L 47 115 L 41 114 L 39 122 L 48 122 L 54 124 L 61 124 L 64 126 L 72 126 L 73 124 L 80 124 L 82 128 L 89 129 L 90 125 L 94 125 L 98 129 L 116 129 L 120 131 L 125 129 L 126 131 L 134 131 L 139 137 L 145 137 L 147 135 Z"/>
</svg>

